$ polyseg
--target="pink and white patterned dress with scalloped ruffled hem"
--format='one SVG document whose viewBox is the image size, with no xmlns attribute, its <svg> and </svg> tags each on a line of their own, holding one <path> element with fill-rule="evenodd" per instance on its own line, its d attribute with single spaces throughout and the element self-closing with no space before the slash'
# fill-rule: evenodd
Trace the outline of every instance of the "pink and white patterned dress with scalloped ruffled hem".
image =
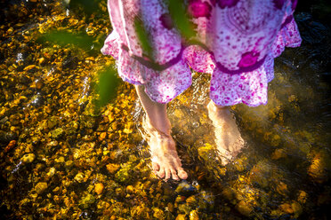
<svg viewBox="0 0 331 220">
<path fill-rule="evenodd" d="M 210 98 L 221 106 L 267 103 L 273 60 L 301 43 L 293 19 L 296 0 L 189 0 L 197 35 L 183 41 L 163 0 L 109 0 L 112 33 L 101 52 L 117 59 L 118 74 L 167 103 L 190 87 L 191 71 L 212 75 Z M 149 34 L 146 58 L 135 20 Z"/>
</svg>

